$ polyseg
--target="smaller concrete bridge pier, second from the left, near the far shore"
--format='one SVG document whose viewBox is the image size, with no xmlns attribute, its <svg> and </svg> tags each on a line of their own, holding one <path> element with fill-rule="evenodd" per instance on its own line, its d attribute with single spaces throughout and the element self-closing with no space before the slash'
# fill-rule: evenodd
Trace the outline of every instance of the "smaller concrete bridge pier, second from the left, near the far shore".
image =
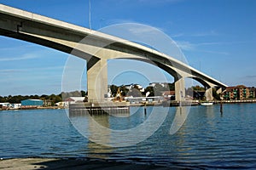
<svg viewBox="0 0 256 170">
<path fill-rule="evenodd" d="M 175 82 L 175 100 L 185 100 L 185 82 L 183 77 Z"/>
</svg>

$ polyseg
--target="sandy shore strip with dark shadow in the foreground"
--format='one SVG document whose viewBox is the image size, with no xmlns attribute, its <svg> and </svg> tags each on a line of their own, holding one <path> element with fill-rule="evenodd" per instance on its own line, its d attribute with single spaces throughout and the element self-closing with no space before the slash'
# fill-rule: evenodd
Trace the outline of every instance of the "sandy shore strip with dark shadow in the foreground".
<svg viewBox="0 0 256 170">
<path fill-rule="evenodd" d="M 4 170 L 33 170 L 33 169 L 105 169 L 105 170 L 119 170 L 119 169 L 161 169 L 167 170 L 172 167 L 163 167 L 150 164 L 139 164 L 136 162 L 120 162 L 109 161 L 94 158 L 9 158 L 0 160 L 0 169 Z M 174 167 L 178 168 L 178 167 Z"/>
</svg>

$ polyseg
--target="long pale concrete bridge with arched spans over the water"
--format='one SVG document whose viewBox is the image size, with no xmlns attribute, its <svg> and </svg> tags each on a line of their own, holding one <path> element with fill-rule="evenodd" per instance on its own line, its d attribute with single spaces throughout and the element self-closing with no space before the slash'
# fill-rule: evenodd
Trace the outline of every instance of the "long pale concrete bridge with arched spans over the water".
<svg viewBox="0 0 256 170">
<path fill-rule="evenodd" d="M 174 77 L 178 101 L 182 101 L 185 96 L 184 78 L 187 77 L 201 82 L 207 88 L 206 96 L 209 100 L 212 99 L 212 88 L 218 88 L 220 93 L 222 88 L 227 87 L 152 48 L 3 4 L 0 4 L 0 35 L 34 42 L 86 59 L 89 100 L 102 100 L 104 94 L 108 93 L 108 59 L 136 59 L 157 65 Z"/>
</svg>

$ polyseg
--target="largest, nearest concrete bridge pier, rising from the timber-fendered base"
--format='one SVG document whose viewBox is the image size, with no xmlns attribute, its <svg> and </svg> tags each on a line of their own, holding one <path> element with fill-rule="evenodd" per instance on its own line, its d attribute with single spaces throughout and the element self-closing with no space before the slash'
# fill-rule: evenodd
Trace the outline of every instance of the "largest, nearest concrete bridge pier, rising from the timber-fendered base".
<svg viewBox="0 0 256 170">
<path fill-rule="evenodd" d="M 87 64 L 87 90 L 89 102 L 104 101 L 108 94 L 107 59 L 100 59 L 94 65 Z"/>
</svg>

